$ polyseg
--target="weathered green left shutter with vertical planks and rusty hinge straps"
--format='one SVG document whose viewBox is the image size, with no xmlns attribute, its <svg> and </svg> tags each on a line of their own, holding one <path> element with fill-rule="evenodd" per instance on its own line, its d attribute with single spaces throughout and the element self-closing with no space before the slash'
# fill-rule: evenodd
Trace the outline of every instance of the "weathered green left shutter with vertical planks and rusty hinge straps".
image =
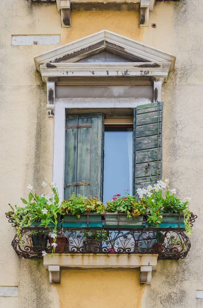
<svg viewBox="0 0 203 308">
<path fill-rule="evenodd" d="M 103 193 L 103 115 L 67 115 L 64 199 Z"/>
</svg>

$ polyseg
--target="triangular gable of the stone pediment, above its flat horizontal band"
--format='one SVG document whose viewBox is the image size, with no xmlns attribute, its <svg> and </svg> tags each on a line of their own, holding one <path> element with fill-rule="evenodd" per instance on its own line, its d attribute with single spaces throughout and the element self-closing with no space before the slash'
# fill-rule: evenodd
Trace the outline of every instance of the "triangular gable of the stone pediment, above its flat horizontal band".
<svg viewBox="0 0 203 308">
<path fill-rule="evenodd" d="M 114 32 L 103 30 L 80 40 L 60 46 L 35 57 L 37 70 L 40 67 L 54 68 L 54 64 L 67 63 L 115 63 L 131 62 L 149 65 L 170 64 L 174 67 L 175 57 Z M 112 61 L 111 61 L 112 60 Z"/>
</svg>

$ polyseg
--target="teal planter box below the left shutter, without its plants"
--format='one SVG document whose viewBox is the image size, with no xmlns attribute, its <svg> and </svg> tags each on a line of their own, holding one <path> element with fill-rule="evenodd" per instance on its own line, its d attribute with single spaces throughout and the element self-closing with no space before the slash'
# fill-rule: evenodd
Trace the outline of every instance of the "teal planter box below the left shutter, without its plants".
<svg viewBox="0 0 203 308">
<path fill-rule="evenodd" d="M 102 227 L 102 216 L 100 214 L 89 215 L 89 227 Z M 78 219 L 75 215 L 64 215 L 61 222 L 62 227 L 87 227 L 87 215 L 82 214 Z"/>
</svg>

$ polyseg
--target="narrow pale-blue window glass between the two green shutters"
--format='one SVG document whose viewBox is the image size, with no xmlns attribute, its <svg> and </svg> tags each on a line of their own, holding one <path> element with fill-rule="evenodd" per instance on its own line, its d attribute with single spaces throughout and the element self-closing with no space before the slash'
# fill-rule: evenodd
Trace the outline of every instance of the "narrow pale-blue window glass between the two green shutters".
<svg viewBox="0 0 203 308">
<path fill-rule="evenodd" d="M 132 195 L 132 128 L 105 127 L 103 202 L 112 196 Z"/>
</svg>

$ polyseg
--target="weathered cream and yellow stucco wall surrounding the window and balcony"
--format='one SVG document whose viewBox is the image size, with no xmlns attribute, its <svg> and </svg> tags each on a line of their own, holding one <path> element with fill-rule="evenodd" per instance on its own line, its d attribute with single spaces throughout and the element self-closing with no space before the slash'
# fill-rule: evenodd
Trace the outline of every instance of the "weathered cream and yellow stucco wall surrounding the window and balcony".
<svg viewBox="0 0 203 308">
<path fill-rule="evenodd" d="M 71 28 L 61 28 L 55 4 L 26 0 L 0 2 L 1 92 L 1 249 L 0 286 L 18 285 L 18 297 L 0 297 L 11 308 L 182 308 L 203 306 L 202 266 L 202 22 L 203 2 L 156 3 L 150 12 L 157 27 L 139 28 L 138 12 L 73 12 Z M 14 229 L 5 218 L 8 203 L 20 205 L 26 186 L 40 188 L 52 178 L 53 119 L 47 117 L 46 86 L 33 57 L 58 45 L 11 46 L 12 34 L 60 34 L 61 45 L 107 29 L 176 56 L 176 68 L 163 86 L 164 176 L 181 197 L 193 197 L 199 216 L 187 259 L 159 261 L 151 286 L 140 286 L 139 272 L 62 271 L 61 285 L 50 285 L 41 261 L 19 259 L 12 247 Z M 44 192 L 44 191 L 43 191 Z M 94 304 L 96 302 L 96 304 Z"/>
</svg>

